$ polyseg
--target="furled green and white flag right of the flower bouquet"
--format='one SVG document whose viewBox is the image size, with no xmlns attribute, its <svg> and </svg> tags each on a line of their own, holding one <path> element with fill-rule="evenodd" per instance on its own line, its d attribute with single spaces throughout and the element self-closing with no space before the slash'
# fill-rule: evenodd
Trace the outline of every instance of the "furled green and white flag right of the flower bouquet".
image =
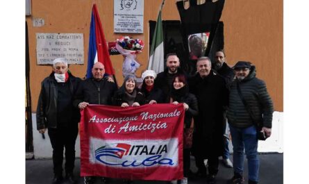
<svg viewBox="0 0 309 184">
<path fill-rule="evenodd" d="M 164 47 L 161 10 L 165 1 L 162 1 L 160 7 L 156 28 L 153 33 L 148 69 L 154 70 L 157 74 L 164 70 Z"/>
</svg>

